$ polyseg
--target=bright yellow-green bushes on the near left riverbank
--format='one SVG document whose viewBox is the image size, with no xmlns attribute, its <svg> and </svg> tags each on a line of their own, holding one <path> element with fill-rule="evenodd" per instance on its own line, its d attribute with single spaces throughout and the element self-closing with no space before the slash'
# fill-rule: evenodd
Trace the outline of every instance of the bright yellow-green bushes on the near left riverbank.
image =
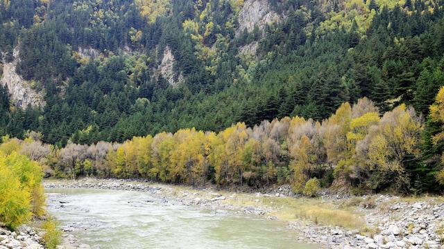
<svg viewBox="0 0 444 249">
<path fill-rule="evenodd" d="M 42 166 L 37 151 L 29 151 L 31 138 L 24 141 L 4 136 L 0 145 L 0 227 L 15 230 L 26 223 L 44 231 L 46 248 L 60 244 L 61 232 L 44 210 Z M 31 154 L 29 154 L 31 153 Z M 34 156 L 33 156 L 34 155 Z"/>
</svg>

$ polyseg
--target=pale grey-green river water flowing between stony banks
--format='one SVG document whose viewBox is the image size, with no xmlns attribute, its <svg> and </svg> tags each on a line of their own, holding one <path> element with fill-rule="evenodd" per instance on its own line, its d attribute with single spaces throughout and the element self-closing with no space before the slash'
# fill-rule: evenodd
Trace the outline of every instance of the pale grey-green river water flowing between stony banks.
<svg viewBox="0 0 444 249">
<path fill-rule="evenodd" d="M 49 213 L 92 248 L 316 248 L 281 221 L 203 210 L 147 192 L 49 189 Z"/>
</svg>

